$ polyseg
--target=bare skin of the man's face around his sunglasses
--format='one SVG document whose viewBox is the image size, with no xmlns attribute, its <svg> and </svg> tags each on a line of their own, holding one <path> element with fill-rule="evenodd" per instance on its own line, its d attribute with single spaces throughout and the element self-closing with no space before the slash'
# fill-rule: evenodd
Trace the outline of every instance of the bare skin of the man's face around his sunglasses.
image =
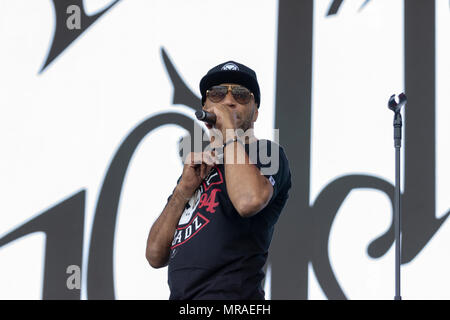
<svg viewBox="0 0 450 320">
<path fill-rule="evenodd" d="M 235 83 L 222 83 L 221 86 L 240 87 L 241 85 Z M 223 105 L 230 109 L 230 111 L 236 116 L 237 128 L 244 131 L 249 128 L 253 128 L 253 123 L 258 118 L 258 107 L 256 106 L 255 98 L 252 98 L 247 104 L 240 104 L 235 100 L 231 91 L 228 91 L 225 98 L 219 102 L 213 102 L 209 98 L 206 98 L 203 110 L 208 111 L 214 105 Z"/>
</svg>

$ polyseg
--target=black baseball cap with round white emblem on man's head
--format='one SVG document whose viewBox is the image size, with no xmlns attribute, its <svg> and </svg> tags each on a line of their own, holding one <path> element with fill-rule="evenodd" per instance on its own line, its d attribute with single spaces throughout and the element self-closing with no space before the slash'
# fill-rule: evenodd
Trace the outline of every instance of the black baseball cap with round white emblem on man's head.
<svg viewBox="0 0 450 320">
<path fill-rule="evenodd" d="M 255 71 L 234 61 L 227 61 L 215 66 L 200 80 L 202 105 L 206 101 L 206 90 L 221 83 L 236 83 L 246 87 L 255 96 L 255 102 L 259 108 L 261 94 Z"/>
</svg>

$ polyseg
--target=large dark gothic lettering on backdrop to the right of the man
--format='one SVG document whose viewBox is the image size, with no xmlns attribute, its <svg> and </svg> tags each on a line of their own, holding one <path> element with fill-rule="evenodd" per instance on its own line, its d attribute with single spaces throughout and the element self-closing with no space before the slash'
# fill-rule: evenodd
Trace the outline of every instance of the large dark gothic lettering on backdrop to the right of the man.
<svg viewBox="0 0 450 320">
<path fill-rule="evenodd" d="M 425 247 L 450 212 L 435 218 L 435 5 L 405 1 L 405 184 L 402 196 L 402 263 Z M 337 11 L 337 9 L 336 9 Z M 344 299 L 330 266 L 328 238 L 348 193 L 374 188 L 393 199 L 393 186 L 370 176 L 347 175 L 310 200 L 311 62 L 313 1 L 279 1 L 276 121 L 280 142 L 292 163 L 292 197 L 272 244 L 272 297 L 306 299 L 308 263 L 330 299 Z M 424 49 L 427 48 L 427 49 Z M 380 106 L 384 107 L 384 106 Z M 426 112 L 424 112 L 426 110 Z M 390 228 L 372 241 L 368 254 L 383 256 L 394 241 Z"/>
</svg>

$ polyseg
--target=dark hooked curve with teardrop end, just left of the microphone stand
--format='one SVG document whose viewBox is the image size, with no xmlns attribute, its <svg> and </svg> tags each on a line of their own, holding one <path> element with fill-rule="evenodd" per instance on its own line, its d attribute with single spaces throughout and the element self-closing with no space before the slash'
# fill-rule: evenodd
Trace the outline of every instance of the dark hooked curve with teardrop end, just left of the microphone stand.
<svg viewBox="0 0 450 320">
<path fill-rule="evenodd" d="M 346 299 L 336 279 L 328 256 L 328 243 L 331 226 L 339 207 L 353 189 L 370 188 L 384 192 L 394 205 L 394 187 L 383 179 L 368 175 L 348 175 L 328 184 L 317 197 L 312 207 L 314 233 L 311 261 L 317 280 L 329 299 Z M 394 229 L 391 227 L 374 240 L 369 246 L 369 254 L 380 254 L 387 251 L 394 240 Z M 385 252 L 384 251 L 384 252 Z M 380 255 L 381 256 L 381 255 Z"/>
</svg>

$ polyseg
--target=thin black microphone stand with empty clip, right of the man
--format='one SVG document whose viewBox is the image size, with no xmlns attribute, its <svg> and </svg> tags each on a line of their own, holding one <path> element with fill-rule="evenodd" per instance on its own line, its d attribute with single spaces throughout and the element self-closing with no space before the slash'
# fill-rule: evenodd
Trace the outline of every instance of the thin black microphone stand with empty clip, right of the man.
<svg viewBox="0 0 450 320">
<path fill-rule="evenodd" d="M 400 265 L 401 265 L 401 199 L 400 199 L 400 148 L 402 146 L 402 115 L 400 110 L 406 104 L 406 95 L 398 96 L 395 101 L 393 94 L 389 98 L 388 107 L 394 111 L 394 147 L 395 147 L 395 195 L 394 195 L 394 228 L 395 228 L 395 297 L 402 300 L 400 295 Z"/>
</svg>

